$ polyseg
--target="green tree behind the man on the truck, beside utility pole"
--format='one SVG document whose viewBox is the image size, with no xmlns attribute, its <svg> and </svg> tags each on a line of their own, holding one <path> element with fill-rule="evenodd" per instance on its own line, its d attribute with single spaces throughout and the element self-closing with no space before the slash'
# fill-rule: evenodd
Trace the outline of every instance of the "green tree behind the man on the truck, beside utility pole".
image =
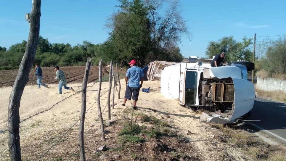
<svg viewBox="0 0 286 161">
<path fill-rule="evenodd" d="M 225 61 L 236 61 L 238 59 L 250 61 L 253 54 L 250 48 L 250 45 L 253 44 L 251 41 L 251 38 L 245 37 L 242 38 L 242 42 L 234 40 L 232 36 L 223 37 L 218 42 L 209 42 L 205 55 L 212 59 L 216 54 L 225 52 Z"/>
</svg>

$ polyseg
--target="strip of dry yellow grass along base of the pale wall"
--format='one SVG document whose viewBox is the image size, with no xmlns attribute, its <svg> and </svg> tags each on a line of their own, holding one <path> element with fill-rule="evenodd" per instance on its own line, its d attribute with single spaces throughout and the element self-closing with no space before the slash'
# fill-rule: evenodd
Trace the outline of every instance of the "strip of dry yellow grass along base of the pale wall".
<svg viewBox="0 0 286 161">
<path fill-rule="evenodd" d="M 283 91 L 263 91 L 255 87 L 255 91 L 257 92 L 257 96 L 265 97 L 282 102 L 286 102 L 286 94 Z"/>
</svg>

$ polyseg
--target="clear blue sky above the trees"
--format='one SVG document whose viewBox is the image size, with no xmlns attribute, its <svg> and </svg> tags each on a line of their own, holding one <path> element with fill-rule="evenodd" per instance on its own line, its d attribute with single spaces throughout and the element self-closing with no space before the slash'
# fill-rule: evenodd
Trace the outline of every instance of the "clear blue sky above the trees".
<svg viewBox="0 0 286 161">
<path fill-rule="evenodd" d="M 30 13 L 31 2 L 1 1 L 0 46 L 9 48 L 27 40 L 25 13 Z M 103 43 L 108 38 L 107 17 L 117 11 L 118 4 L 116 0 L 42 0 L 40 35 L 51 43 Z M 240 41 L 256 33 L 260 41 L 264 37 L 258 36 L 286 34 L 284 0 L 181 0 L 180 4 L 192 35 L 191 40 L 182 38 L 178 44 L 185 57 L 204 57 L 208 43 L 224 36 Z"/>
</svg>

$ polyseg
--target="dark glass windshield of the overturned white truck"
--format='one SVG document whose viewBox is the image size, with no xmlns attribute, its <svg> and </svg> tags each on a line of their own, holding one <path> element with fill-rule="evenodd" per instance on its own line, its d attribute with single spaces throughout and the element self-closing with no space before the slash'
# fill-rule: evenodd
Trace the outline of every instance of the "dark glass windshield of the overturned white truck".
<svg viewBox="0 0 286 161">
<path fill-rule="evenodd" d="M 185 79 L 185 104 L 196 104 L 197 72 L 187 71 Z"/>
</svg>

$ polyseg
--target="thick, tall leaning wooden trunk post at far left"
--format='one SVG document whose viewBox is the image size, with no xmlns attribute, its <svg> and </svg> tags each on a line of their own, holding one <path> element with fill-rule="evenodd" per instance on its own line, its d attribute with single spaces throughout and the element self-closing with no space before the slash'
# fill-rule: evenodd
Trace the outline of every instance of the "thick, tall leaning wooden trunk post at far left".
<svg viewBox="0 0 286 161">
<path fill-rule="evenodd" d="M 20 148 L 20 100 L 29 80 L 29 73 L 32 67 L 32 63 L 35 58 L 39 32 L 40 32 L 40 17 L 41 17 L 41 0 L 32 1 L 31 13 L 26 14 L 25 18 L 29 22 L 30 31 L 28 42 L 26 44 L 25 54 L 19 66 L 19 71 L 13 88 L 9 97 L 8 107 L 8 146 L 11 160 L 21 160 L 21 148 Z"/>
</svg>

